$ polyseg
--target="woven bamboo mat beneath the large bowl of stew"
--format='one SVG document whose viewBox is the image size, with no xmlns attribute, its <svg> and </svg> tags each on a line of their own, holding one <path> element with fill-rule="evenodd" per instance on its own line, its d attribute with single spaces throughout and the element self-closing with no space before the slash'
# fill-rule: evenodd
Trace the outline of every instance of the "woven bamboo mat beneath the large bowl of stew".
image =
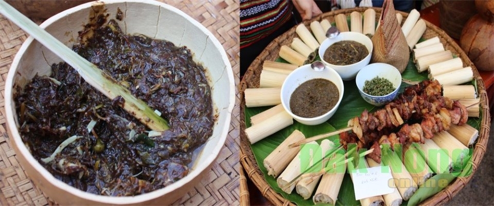
<svg viewBox="0 0 494 206">
<path fill-rule="evenodd" d="M 170 4 L 204 25 L 225 48 L 232 64 L 235 84 L 239 83 L 239 3 L 237 1 L 162 1 Z M 6 133 L 4 86 L 15 53 L 27 35 L 0 15 L 0 205 L 56 204 L 44 196 L 29 180 L 16 159 Z M 230 132 L 216 163 L 207 175 L 173 205 L 238 205 L 239 178 L 239 96 L 232 113 Z"/>
</svg>

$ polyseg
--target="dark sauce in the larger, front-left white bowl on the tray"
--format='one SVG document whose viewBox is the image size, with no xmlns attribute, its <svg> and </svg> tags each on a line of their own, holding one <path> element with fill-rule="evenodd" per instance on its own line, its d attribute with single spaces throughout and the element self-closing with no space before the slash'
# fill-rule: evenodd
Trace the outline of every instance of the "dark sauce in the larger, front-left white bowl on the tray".
<svg viewBox="0 0 494 206">
<path fill-rule="evenodd" d="M 302 83 L 290 96 L 290 110 L 296 116 L 314 118 L 326 114 L 338 103 L 338 87 L 326 79 Z"/>
</svg>

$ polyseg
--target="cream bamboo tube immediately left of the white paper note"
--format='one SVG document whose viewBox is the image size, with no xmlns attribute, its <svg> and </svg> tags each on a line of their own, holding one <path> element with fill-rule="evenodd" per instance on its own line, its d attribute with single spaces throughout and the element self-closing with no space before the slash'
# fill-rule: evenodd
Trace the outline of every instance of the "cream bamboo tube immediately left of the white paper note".
<svg viewBox="0 0 494 206">
<path fill-rule="evenodd" d="M 325 173 L 321 178 L 319 186 L 312 197 L 314 204 L 332 204 L 336 203 L 338 193 L 340 192 L 343 178 L 345 177 L 346 164 L 337 165 L 344 161 L 344 154 L 335 153 L 329 158 L 325 168 Z"/>
</svg>

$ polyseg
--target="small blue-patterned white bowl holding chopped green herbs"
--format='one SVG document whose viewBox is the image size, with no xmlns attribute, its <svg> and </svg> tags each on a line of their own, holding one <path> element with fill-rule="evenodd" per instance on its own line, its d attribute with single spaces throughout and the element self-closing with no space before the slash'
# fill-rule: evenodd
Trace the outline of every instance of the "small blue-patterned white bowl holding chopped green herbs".
<svg viewBox="0 0 494 206">
<path fill-rule="evenodd" d="M 375 77 L 389 80 L 393 83 L 395 90 L 385 96 L 368 95 L 363 91 L 365 81 L 372 80 Z M 355 79 L 355 83 L 357 84 L 357 88 L 359 88 L 360 96 L 362 96 L 366 102 L 375 106 L 382 106 L 393 101 L 398 94 L 398 90 L 401 85 L 401 73 L 393 65 L 386 63 L 373 63 L 365 66 L 359 71 L 357 78 Z"/>
</svg>

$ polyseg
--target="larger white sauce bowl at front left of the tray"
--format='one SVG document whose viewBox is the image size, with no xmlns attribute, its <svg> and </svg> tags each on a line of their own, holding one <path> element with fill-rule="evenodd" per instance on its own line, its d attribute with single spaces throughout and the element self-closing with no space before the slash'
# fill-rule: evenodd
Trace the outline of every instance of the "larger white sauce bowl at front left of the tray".
<svg viewBox="0 0 494 206">
<path fill-rule="evenodd" d="M 334 85 L 338 87 L 338 91 L 340 93 L 338 102 L 326 114 L 319 117 L 304 118 L 294 115 L 290 110 L 290 97 L 292 96 L 293 91 L 295 91 L 295 89 L 302 83 L 318 78 L 327 79 L 333 82 Z M 338 73 L 334 71 L 334 69 L 326 67 L 323 71 L 314 71 L 310 67 L 310 65 L 307 64 L 293 70 L 287 76 L 287 78 L 283 82 L 283 85 L 281 85 L 281 94 L 280 94 L 281 104 L 288 112 L 288 114 L 290 114 L 293 117 L 293 119 L 295 119 L 296 121 L 307 125 L 317 125 L 327 121 L 329 118 L 331 118 L 334 115 L 334 113 L 338 109 L 338 106 L 340 105 L 341 100 L 343 99 L 343 90 L 344 90 L 343 80 L 338 75 Z"/>
</svg>

